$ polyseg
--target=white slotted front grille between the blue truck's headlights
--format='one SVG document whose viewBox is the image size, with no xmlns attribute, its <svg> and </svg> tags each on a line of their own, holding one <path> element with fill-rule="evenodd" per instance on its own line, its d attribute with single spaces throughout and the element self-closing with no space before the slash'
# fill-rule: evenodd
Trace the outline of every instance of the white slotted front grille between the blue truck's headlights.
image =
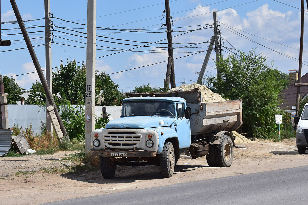
<svg viewBox="0 0 308 205">
<path fill-rule="evenodd" d="M 141 143 L 141 135 L 135 132 L 108 132 L 103 136 L 103 142 L 111 146 L 135 146 Z"/>
</svg>

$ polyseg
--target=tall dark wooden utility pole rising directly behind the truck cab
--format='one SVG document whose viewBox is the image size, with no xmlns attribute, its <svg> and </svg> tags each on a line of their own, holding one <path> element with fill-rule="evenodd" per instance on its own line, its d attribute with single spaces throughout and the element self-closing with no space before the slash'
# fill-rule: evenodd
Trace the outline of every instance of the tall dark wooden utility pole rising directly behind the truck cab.
<svg viewBox="0 0 308 205">
<path fill-rule="evenodd" d="M 165 0 L 165 6 L 166 6 L 166 26 L 167 26 L 167 40 L 168 40 L 168 55 L 169 58 L 172 58 L 172 64 L 171 64 L 171 75 L 170 75 L 170 85 L 171 88 L 175 88 L 175 75 L 174 75 L 174 61 L 173 61 L 173 48 L 172 48 L 172 31 L 171 30 L 171 21 L 170 19 L 170 7 L 169 7 L 169 0 Z M 169 59 L 168 59 L 169 62 Z M 167 66 L 168 67 L 168 66 Z M 167 69 L 167 74 L 168 74 L 168 69 Z M 166 74 L 166 76 L 167 76 Z M 166 82 L 168 84 L 167 78 Z"/>
</svg>

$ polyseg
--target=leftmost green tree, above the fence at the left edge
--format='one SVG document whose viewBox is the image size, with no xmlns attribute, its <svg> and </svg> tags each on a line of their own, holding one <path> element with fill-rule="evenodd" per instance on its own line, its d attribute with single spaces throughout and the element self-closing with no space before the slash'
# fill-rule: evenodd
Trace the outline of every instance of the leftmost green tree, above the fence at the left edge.
<svg viewBox="0 0 308 205">
<path fill-rule="evenodd" d="M 17 104 L 22 95 L 22 88 L 15 82 L 14 78 L 3 76 L 4 92 L 8 93 L 6 96 L 7 104 Z"/>
</svg>

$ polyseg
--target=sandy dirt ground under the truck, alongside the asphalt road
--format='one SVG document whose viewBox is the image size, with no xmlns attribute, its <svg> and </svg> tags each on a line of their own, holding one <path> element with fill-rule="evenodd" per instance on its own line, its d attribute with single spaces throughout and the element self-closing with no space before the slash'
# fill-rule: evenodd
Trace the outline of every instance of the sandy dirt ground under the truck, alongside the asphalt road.
<svg viewBox="0 0 308 205">
<path fill-rule="evenodd" d="M 299 155 L 294 139 L 283 142 L 257 140 L 236 144 L 233 164 L 228 168 L 213 168 L 205 157 L 195 160 L 179 159 L 175 173 L 164 179 L 156 166 L 117 167 L 115 178 L 103 179 L 100 172 L 45 173 L 40 168 L 64 168 L 69 161 L 61 160 L 73 152 L 53 155 L 29 155 L 0 158 L 1 204 L 42 204 L 51 201 L 108 194 L 169 184 L 192 182 L 225 176 L 249 174 L 308 165 L 308 154 Z M 307 153 L 307 152 L 306 152 Z M 19 174 L 29 171 L 28 174 Z"/>
</svg>

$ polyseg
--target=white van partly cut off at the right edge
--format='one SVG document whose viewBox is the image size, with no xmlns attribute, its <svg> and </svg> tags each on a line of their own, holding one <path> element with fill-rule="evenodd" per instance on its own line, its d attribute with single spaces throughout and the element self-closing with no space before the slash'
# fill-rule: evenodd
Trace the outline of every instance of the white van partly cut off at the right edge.
<svg viewBox="0 0 308 205">
<path fill-rule="evenodd" d="M 299 154 L 305 154 L 308 147 L 308 103 L 305 104 L 302 115 L 294 117 L 296 128 L 296 145 Z"/>
</svg>

